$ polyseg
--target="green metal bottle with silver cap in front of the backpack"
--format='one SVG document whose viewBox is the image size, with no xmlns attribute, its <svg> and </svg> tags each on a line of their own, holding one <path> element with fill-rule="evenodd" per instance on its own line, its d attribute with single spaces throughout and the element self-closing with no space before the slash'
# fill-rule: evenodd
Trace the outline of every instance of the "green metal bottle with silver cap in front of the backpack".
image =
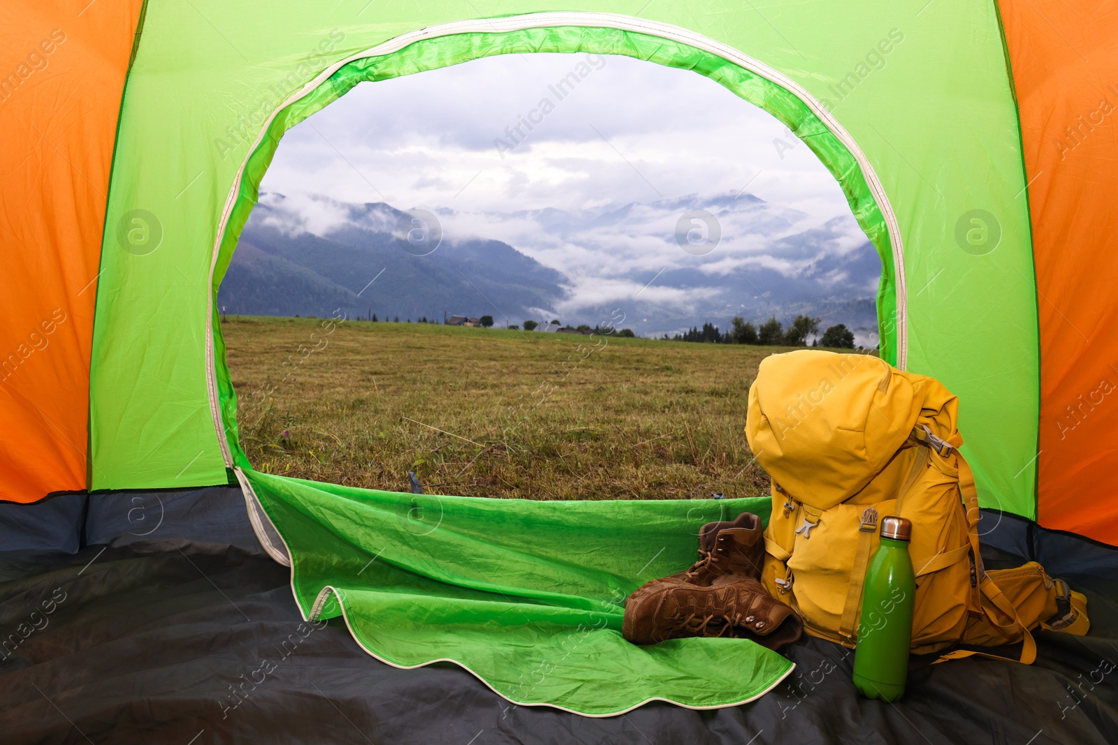
<svg viewBox="0 0 1118 745">
<path fill-rule="evenodd" d="M 916 602 L 916 575 L 908 553 L 911 536 L 910 520 L 882 519 L 881 546 L 865 570 L 854 686 L 869 698 L 894 701 L 904 694 Z"/>
</svg>

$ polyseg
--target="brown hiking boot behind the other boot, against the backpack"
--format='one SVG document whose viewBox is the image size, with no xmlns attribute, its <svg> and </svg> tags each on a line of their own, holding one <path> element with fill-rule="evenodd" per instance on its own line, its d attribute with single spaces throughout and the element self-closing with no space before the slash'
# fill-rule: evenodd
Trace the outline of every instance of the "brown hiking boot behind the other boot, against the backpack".
<svg viewBox="0 0 1118 745">
<path fill-rule="evenodd" d="M 765 563 L 765 538 L 761 520 L 752 513 L 742 513 L 732 520 L 707 523 L 699 531 L 699 561 L 685 572 L 679 572 L 643 584 L 636 592 L 654 592 L 672 584 L 718 585 L 736 579 L 759 579 Z"/>
</svg>

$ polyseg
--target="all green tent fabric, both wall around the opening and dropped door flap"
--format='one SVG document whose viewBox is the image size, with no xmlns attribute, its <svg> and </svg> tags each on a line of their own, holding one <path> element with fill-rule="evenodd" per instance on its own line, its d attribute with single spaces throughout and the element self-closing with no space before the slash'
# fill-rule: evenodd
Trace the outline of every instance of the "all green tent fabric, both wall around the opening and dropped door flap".
<svg viewBox="0 0 1118 745">
<path fill-rule="evenodd" d="M 785 2 L 774 20 L 776 3 L 762 16 L 417 0 L 363 18 L 368 6 L 344 4 L 262 13 L 218 0 L 145 3 L 97 275 L 91 488 L 236 474 L 267 513 L 249 494 L 262 541 L 274 536 L 273 555 L 293 566 L 304 614 L 344 613 L 381 659 L 451 659 L 514 701 L 599 715 L 651 698 L 719 706 L 787 675 L 787 661 L 748 642 L 639 649 L 618 633 L 620 600 L 685 567 L 711 510 L 764 514 L 764 502 L 413 497 L 256 474 L 239 448 L 215 297 L 284 132 L 362 82 L 499 54 L 593 51 L 717 80 L 819 156 L 882 258 L 883 356 L 965 402 L 983 505 L 1035 515 L 1036 294 L 1018 199 L 1027 183 L 993 3 L 940 0 L 922 12 L 868 0 L 852 12 Z M 951 246 L 951 227 L 976 208 L 998 214 L 997 251 Z M 157 228 L 150 250 L 119 240 L 135 216 Z"/>
</svg>

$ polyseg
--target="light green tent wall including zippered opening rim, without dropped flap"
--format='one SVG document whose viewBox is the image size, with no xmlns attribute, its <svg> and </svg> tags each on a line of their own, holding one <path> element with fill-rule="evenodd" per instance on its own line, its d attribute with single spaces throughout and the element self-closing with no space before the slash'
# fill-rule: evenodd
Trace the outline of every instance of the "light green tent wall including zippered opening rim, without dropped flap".
<svg viewBox="0 0 1118 745">
<path fill-rule="evenodd" d="M 345 3 L 284 2 L 266 13 L 218 0 L 149 3 L 107 192 L 89 363 L 92 488 L 206 486 L 247 466 L 214 290 L 284 130 L 360 80 L 492 54 L 594 51 L 709 76 L 819 155 L 892 273 L 879 297 L 884 355 L 965 402 L 964 449 L 983 506 L 1034 517 L 1036 294 L 996 8 L 778 4 L 770 16 L 760 6 L 618 0 L 555 11 L 542 0 L 480 9 L 423 0 L 358 18 L 361 8 Z M 868 55 L 884 60 L 879 69 Z M 976 208 L 999 223 L 999 248 L 982 256 L 951 232 Z M 138 213 L 159 227 L 146 254 L 116 237 Z M 888 236 L 879 214 L 896 223 Z"/>
</svg>

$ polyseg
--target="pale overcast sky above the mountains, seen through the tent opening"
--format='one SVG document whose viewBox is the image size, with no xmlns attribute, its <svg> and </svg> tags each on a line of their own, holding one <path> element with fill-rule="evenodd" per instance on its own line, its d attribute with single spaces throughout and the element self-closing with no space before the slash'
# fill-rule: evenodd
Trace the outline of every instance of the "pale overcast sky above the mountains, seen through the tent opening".
<svg viewBox="0 0 1118 745">
<path fill-rule="evenodd" d="M 565 78 L 577 84 L 560 88 Z M 444 240 L 496 238 L 577 267 L 572 308 L 632 296 L 642 273 L 666 266 L 724 279 L 749 262 L 794 273 L 815 257 L 780 256 L 777 238 L 811 232 L 816 254 L 865 243 L 837 182 L 779 122 L 701 75 L 627 57 L 505 55 L 362 83 L 284 136 L 262 191 L 302 204 L 313 232 L 338 218 L 311 194 L 432 210 Z M 716 254 L 681 250 L 672 231 L 686 207 L 673 200 L 726 194 L 768 202 L 757 216 L 767 232 L 750 229 L 747 210 L 728 216 Z M 632 202 L 661 208 L 642 212 L 643 227 L 626 220 L 624 236 L 559 239 L 538 216 L 515 214 L 555 208 L 585 220 Z M 669 287 L 642 298 L 657 293 L 686 302 Z"/>
</svg>

